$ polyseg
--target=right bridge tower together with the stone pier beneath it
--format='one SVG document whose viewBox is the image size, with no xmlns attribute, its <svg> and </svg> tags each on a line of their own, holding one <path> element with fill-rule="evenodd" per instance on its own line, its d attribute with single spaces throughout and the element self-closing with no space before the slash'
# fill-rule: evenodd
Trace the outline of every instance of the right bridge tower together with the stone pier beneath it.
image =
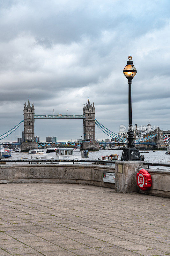
<svg viewBox="0 0 170 256">
<path fill-rule="evenodd" d="M 82 149 L 99 150 L 99 143 L 95 139 L 95 107 L 94 103 L 93 106 L 90 104 L 89 99 L 88 103 L 84 104 L 83 115 L 85 118 L 83 119 L 84 142 Z"/>
</svg>

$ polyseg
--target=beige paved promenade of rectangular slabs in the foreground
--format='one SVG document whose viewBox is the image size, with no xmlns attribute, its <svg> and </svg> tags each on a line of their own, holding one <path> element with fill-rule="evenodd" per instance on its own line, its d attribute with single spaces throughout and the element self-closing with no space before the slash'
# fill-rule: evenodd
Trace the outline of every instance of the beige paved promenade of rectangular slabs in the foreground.
<svg viewBox="0 0 170 256">
<path fill-rule="evenodd" d="M 0 255 L 169 255 L 170 200 L 75 184 L 0 184 Z"/>
</svg>

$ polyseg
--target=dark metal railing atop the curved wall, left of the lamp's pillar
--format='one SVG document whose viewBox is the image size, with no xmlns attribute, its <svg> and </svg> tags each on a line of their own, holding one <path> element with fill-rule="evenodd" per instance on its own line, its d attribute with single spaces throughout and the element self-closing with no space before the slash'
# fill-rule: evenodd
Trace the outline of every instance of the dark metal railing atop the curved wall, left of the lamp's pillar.
<svg viewBox="0 0 170 256">
<path fill-rule="evenodd" d="M 29 162 L 29 164 L 30 163 L 32 163 L 32 162 L 51 162 L 51 163 L 55 163 L 55 162 L 71 162 L 71 163 L 73 163 L 73 164 L 75 164 L 75 163 L 95 163 L 95 164 L 102 164 L 102 165 L 104 165 L 104 164 L 115 164 L 115 162 L 116 161 L 109 161 L 109 160 L 67 160 L 67 159 L 65 159 L 65 160 L 53 160 L 53 159 L 48 159 L 48 160 L 42 160 L 42 159 L 7 159 L 7 160 L 2 160 L 2 159 L 0 159 L 0 164 L 1 163 L 4 163 L 4 162 L 6 162 L 6 163 L 11 163 L 11 162 Z"/>
</svg>

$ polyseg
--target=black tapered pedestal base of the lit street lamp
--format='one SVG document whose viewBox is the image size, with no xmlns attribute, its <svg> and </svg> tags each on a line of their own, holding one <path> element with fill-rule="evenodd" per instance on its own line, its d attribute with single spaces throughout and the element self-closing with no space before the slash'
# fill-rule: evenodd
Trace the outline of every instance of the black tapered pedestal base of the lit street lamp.
<svg viewBox="0 0 170 256">
<path fill-rule="evenodd" d="M 138 148 L 123 148 L 121 161 L 142 161 Z"/>
</svg>

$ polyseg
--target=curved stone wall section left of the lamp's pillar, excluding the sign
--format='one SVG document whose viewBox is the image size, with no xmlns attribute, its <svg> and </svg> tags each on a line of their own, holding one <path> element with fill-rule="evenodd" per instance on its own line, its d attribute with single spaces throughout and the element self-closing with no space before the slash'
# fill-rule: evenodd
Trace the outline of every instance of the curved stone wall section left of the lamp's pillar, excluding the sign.
<svg viewBox="0 0 170 256">
<path fill-rule="evenodd" d="M 24 164 L 1 165 L 0 183 L 78 183 L 115 188 L 103 182 L 103 172 L 115 172 L 115 167 L 95 164 Z"/>
</svg>

